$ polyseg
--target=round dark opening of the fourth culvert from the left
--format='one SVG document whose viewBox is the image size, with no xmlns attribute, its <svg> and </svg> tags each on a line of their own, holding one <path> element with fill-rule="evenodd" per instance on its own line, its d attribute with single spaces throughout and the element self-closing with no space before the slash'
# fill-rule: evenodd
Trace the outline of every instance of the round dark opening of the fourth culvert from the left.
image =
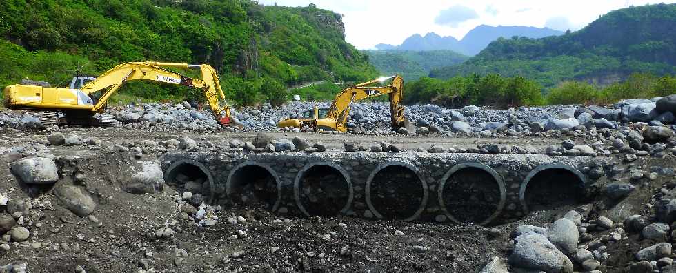
<svg viewBox="0 0 676 273">
<path fill-rule="evenodd" d="M 390 165 L 371 180 L 370 203 L 385 219 L 411 219 L 424 201 L 424 183 L 410 168 Z"/>
</svg>

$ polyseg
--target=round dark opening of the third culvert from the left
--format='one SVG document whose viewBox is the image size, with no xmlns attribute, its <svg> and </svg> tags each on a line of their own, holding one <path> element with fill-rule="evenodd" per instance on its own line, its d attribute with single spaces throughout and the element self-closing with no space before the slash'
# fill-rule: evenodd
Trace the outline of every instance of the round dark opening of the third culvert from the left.
<svg viewBox="0 0 676 273">
<path fill-rule="evenodd" d="M 299 179 L 298 199 L 310 216 L 335 216 L 350 201 L 350 185 L 336 168 L 314 165 Z"/>
</svg>

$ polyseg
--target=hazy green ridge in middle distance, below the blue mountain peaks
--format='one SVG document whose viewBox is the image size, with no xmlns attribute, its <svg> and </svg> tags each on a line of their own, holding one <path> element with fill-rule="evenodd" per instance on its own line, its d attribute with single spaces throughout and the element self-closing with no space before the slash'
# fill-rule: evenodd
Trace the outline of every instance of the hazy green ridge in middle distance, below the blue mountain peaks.
<svg viewBox="0 0 676 273">
<path fill-rule="evenodd" d="M 462 63 L 469 57 L 450 50 L 366 50 L 369 62 L 381 74 L 400 74 L 407 81 L 426 77 L 433 68 Z"/>
</svg>

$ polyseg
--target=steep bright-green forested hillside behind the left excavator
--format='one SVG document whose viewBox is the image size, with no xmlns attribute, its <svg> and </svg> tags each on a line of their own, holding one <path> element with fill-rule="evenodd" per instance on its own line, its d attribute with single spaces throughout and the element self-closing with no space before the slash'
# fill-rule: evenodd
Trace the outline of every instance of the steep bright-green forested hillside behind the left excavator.
<svg viewBox="0 0 676 273">
<path fill-rule="evenodd" d="M 6 0 L 0 37 L 0 88 L 23 78 L 59 85 L 125 61 L 209 63 L 228 97 L 244 105 L 284 97 L 286 86 L 306 81 L 364 81 L 378 74 L 344 41 L 341 15 L 314 5 Z M 130 83 L 122 92 L 152 99 L 186 94 L 148 83 Z"/>
</svg>

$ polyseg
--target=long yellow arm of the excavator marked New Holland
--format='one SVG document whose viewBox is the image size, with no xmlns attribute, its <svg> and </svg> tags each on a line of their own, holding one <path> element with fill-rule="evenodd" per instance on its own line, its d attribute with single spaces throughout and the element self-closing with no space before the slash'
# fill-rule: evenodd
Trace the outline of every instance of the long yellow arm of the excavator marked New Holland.
<svg viewBox="0 0 676 273">
<path fill-rule="evenodd" d="M 199 69 L 202 79 L 186 77 L 166 68 Z M 225 102 L 225 94 L 221 89 L 216 71 L 206 64 L 189 65 L 187 63 L 160 63 L 155 61 L 122 63 L 101 74 L 96 80 L 83 85 L 81 91 L 85 94 L 92 94 L 103 90 L 101 98 L 92 108 L 92 111 L 100 112 L 110 96 L 115 94 L 126 81 L 157 81 L 202 90 L 217 121 L 223 125 L 231 122 L 230 108 Z"/>
</svg>

